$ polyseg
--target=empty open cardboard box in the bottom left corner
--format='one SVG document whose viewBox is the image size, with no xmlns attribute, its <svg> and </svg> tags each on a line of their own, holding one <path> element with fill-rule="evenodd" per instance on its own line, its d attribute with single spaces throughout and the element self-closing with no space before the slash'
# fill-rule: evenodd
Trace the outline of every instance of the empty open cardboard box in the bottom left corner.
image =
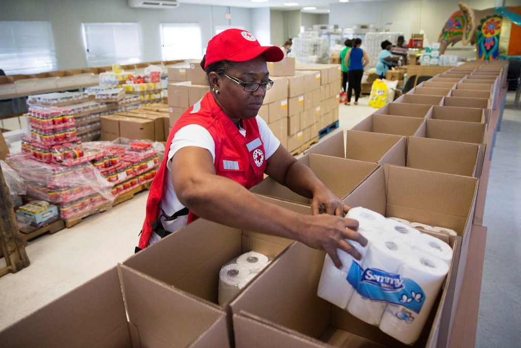
<svg viewBox="0 0 521 348">
<path fill-rule="evenodd" d="M 0 332 L 0 341 L 28 347 L 229 346 L 224 311 L 125 266 L 14 323 Z"/>
</svg>

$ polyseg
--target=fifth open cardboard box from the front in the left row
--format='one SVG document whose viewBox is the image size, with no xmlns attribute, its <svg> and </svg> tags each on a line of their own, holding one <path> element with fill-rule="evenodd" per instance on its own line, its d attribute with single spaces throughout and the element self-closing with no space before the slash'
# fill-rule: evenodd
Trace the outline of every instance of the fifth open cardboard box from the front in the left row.
<svg viewBox="0 0 521 348">
<path fill-rule="evenodd" d="M 304 153 L 373 163 L 405 165 L 406 143 L 406 139 L 398 135 L 348 129 L 319 142 Z"/>
</svg>

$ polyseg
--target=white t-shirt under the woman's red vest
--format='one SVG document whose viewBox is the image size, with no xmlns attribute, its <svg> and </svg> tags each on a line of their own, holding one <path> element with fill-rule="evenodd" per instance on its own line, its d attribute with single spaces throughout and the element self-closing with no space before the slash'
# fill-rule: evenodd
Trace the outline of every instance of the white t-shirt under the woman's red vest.
<svg viewBox="0 0 521 348">
<path fill-rule="evenodd" d="M 255 119 L 259 127 L 259 134 L 264 143 L 264 150 L 266 151 L 265 159 L 267 160 L 277 151 L 280 141 L 275 137 L 271 129 L 269 129 L 264 119 L 260 116 L 257 116 Z M 246 130 L 242 127 L 239 128 L 239 132 L 244 137 L 246 136 Z M 173 155 L 180 149 L 188 146 L 196 146 L 208 150 L 208 152 L 212 154 L 212 159 L 215 164 L 215 142 L 206 128 L 200 125 L 188 125 L 177 131 L 172 139 L 170 150 L 168 151 L 168 160 L 166 163 L 167 174 L 163 182 L 163 197 L 161 197 L 161 209 L 163 209 L 163 212 L 168 216 L 184 208 L 179 199 L 177 199 L 176 191 L 173 190 L 172 180 L 170 179 L 170 166 Z M 173 221 L 165 221 L 165 218 L 162 217 L 160 221 L 165 230 L 173 232 L 184 227 L 187 224 L 187 219 L 188 215 L 184 215 Z M 160 239 L 161 237 L 152 231 L 148 245 L 154 244 Z"/>
</svg>

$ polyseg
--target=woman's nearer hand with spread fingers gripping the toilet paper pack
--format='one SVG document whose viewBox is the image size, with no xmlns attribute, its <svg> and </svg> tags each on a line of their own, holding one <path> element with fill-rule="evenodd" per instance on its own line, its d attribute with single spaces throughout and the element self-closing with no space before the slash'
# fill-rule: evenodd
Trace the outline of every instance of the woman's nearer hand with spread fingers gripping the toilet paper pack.
<svg viewBox="0 0 521 348">
<path fill-rule="evenodd" d="M 367 245 L 367 239 L 356 232 L 358 221 L 341 218 L 335 215 L 305 215 L 304 230 L 301 231 L 299 241 L 316 249 L 324 250 L 331 257 L 337 268 L 342 268 L 342 261 L 338 257 L 337 248 L 351 254 L 356 259 L 362 255 L 345 239 L 351 239 L 362 246 Z"/>
</svg>

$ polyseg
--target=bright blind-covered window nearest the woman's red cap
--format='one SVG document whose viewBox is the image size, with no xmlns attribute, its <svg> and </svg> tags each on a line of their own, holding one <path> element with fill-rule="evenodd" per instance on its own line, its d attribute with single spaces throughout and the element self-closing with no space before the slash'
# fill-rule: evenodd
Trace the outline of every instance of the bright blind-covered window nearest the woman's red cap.
<svg viewBox="0 0 521 348">
<path fill-rule="evenodd" d="M 163 60 L 203 57 L 201 27 L 197 23 L 162 23 Z"/>
</svg>

